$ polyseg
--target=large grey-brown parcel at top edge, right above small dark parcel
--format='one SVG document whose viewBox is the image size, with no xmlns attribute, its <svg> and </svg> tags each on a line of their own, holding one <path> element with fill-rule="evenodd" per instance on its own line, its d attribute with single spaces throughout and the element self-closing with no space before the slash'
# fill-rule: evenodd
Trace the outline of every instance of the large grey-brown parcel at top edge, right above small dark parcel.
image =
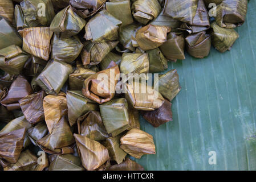
<svg viewBox="0 0 256 182">
<path fill-rule="evenodd" d="M 208 30 L 210 27 L 208 10 L 203 0 L 167 0 L 164 15 L 184 22 L 181 29 L 190 34 Z"/>
</svg>

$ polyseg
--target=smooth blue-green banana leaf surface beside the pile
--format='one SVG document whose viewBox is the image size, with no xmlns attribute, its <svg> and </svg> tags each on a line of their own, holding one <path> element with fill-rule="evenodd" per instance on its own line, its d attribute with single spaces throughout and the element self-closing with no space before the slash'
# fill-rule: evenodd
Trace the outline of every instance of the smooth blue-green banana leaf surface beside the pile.
<svg viewBox="0 0 256 182">
<path fill-rule="evenodd" d="M 212 48 L 203 60 L 188 54 L 170 63 L 177 69 L 181 92 L 173 100 L 173 122 L 152 134 L 156 155 L 137 160 L 148 170 L 256 169 L 256 2 L 249 2 L 247 20 L 231 51 Z M 216 151 L 217 164 L 208 155 Z"/>
</svg>

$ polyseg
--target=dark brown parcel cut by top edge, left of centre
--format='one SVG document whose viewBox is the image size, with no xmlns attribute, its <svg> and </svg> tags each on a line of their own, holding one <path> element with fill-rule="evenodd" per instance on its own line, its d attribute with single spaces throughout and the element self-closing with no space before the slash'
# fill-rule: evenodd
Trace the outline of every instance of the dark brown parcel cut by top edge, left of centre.
<svg viewBox="0 0 256 182">
<path fill-rule="evenodd" d="M 106 0 L 70 0 L 70 5 L 80 17 L 86 19 L 99 11 L 104 6 L 105 1 Z"/>
</svg>

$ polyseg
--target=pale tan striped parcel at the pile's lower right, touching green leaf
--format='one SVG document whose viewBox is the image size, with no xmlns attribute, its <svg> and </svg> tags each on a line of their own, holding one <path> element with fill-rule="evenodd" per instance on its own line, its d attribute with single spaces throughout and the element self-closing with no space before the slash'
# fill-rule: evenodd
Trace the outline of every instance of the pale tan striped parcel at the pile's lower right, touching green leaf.
<svg viewBox="0 0 256 182">
<path fill-rule="evenodd" d="M 139 129 L 132 129 L 120 139 L 120 148 L 140 159 L 144 154 L 156 154 L 152 135 Z"/>
</svg>

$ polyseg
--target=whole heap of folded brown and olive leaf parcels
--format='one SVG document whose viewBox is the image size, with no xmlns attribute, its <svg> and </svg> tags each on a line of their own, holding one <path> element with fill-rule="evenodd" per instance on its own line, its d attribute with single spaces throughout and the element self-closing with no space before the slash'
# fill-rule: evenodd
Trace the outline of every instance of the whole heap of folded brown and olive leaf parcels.
<svg viewBox="0 0 256 182">
<path fill-rule="evenodd" d="M 111 74 L 230 50 L 246 12 L 247 0 L 0 0 L 2 169 L 143 170 L 129 155 L 156 150 L 139 114 L 153 127 L 172 121 L 178 73 L 160 75 L 158 90 Z"/>
</svg>

